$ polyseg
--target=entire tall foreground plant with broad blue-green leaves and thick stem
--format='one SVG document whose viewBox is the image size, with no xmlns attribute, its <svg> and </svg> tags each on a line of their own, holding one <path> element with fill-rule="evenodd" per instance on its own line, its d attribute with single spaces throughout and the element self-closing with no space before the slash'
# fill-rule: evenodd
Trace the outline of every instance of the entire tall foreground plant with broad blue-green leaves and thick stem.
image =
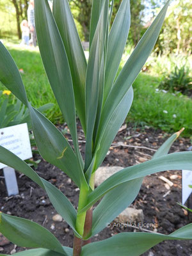
<svg viewBox="0 0 192 256">
<path fill-rule="evenodd" d="M 109 1 L 93 0 L 88 63 L 68 1 L 54 0 L 53 15 L 47 0 L 35 1 L 35 23 L 42 61 L 70 129 L 74 150 L 63 134 L 29 104 L 19 71 L 8 51 L 0 44 L 0 81 L 28 107 L 40 154 L 67 173 L 80 189 L 76 211 L 59 189 L 39 177 L 17 156 L 0 147 L 1 163 L 19 170 L 45 189 L 56 211 L 74 230 L 72 249 L 61 246 L 56 237 L 35 222 L 1 212 L 1 233 L 14 244 L 35 248 L 17 253 L 18 256 L 141 255 L 165 239 L 192 239 L 192 224 L 189 224 L 169 236 L 125 232 L 90 243 L 92 236 L 131 204 L 138 195 L 145 175 L 163 170 L 192 170 L 192 152 L 164 156 L 179 136 L 180 132 L 176 132 L 159 148 L 154 159 L 124 168 L 94 189 L 95 171 L 129 112 L 133 99 L 131 85 L 154 47 L 168 3 L 143 35 L 114 81 L 129 32 L 129 0 L 122 1 L 109 34 Z M 76 109 L 86 135 L 84 161 L 77 141 Z M 101 202 L 92 211 L 93 204 L 100 198 Z"/>
</svg>

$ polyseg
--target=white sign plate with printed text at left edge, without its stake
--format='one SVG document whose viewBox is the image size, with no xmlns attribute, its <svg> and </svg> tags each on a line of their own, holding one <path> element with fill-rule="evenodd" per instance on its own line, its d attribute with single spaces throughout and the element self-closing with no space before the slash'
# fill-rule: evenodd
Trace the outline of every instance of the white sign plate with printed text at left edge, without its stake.
<svg viewBox="0 0 192 256">
<path fill-rule="evenodd" d="M 13 125 L 0 129 L 0 145 L 26 160 L 32 157 L 27 124 Z M 6 167 L 0 163 L 0 169 Z"/>
</svg>

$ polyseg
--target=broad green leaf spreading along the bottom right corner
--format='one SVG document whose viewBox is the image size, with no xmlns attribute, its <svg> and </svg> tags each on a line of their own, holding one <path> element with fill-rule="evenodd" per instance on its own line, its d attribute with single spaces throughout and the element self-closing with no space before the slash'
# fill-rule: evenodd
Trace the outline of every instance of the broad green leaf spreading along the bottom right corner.
<svg viewBox="0 0 192 256">
<path fill-rule="evenodd" d="M 192 223 L 170 235 L 145 232 L 122 232 L 103 241 L 83 246 L 81 256 L 140 256 L 164 240 L 192 239 Z"/>
</svg>

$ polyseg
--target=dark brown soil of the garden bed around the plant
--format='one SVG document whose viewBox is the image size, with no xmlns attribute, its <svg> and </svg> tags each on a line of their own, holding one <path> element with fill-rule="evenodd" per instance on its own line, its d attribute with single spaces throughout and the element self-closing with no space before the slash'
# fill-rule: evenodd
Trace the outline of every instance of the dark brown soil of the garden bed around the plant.
<svg viewBox="0 0 192 256">
<path fill-rule="evenodd" d="M 62 129 L 66 127 L 60 127 Z M 152 128 L 134 129 L 134 127 L 123 127 L 122 131 L 113 142 L 112 147 L 108 152 L 108 156 L 104 160 L 103 166 L 131 166 L 150 159 L 154 154 L 154 150 L 168 138 L 168 134 L 157 131 Z M 65 134 L 70 139 L 69 134 Z M 79 127 L 79 140 L 81 141 L 81 150 L 84 152 L 84 137 Z M 122 145 L 120 145 L 122 144 Z M 131 146 L 131 147 L 129 147 Z M 190 145 L 188 138 L 179 138 L 172 146 L 170 152 L 186 151 Z M 141 147 L 141 148 L 140 148 Z M 39 159 L 40 156 L 35 156 Z M 36 168 L 36 172 L 46 180 L 61 189 L 63 193 L 69 198 L 72 204 L 77 206 L 77 199 L 79 189 L 68 179 L 67 175 L 61 172 L 58 168 L 52 166 L 45 161 L 41 161 Z M 176 179 L 172 180 L 173 186 L 168 188 L 165 182 L 159 177 L 170 179 L 171 175 L 177 175 Z M 0 176 L 3 173 L 0 171 Z M 49 199 L 45 195 L 43 189 L 39 188 L 28 177 L 17 172 L 17 180 L 19 184 L 20 195 L 11 196 L 8 198 L 4 180 L 1 179 L 0 186 L 0 210 L 4 213 L 13 214 L 29 220 L 36 221 L 51 232 L 60 240 L 61 244 L 72 247 L 73 232 L 68 227 L 65 221 L 56 222 L 52 217 L 56 211 L 52 207 Z M 156 223 L 157 232 L 170 234 L 174 230 L 190 223 L 191 216 L 184 211 L 177 202 L 181 201 L 181 172 L 161 172 L 150 175 L 143 180 L 140 193 L 131 207 L 136 209 L 143 209 L 144 223 Z M 154 231 L 154 228 L 148 228 Z M 118 232 L 129 232 L 135 230 L 134 228 L 105 228 L 99 235 L 93 237 L 93 241 L 99 241 L 117 234 Z M 139 230 L 136 229 L 138 232 Z M 0 253 L 10 253 L 14 245 L 8 243 L 3 245 L 0 237 Z M 19 252 L 23 248 L 16 248 Z M 154 253 L 154 254 L 153 254 Z M 192 255 L 192 241 L 166 241 L 157 246 L 154 246 L 149 252 L 143 255 L 156 256 L 189 256 Z"/>
</svg>

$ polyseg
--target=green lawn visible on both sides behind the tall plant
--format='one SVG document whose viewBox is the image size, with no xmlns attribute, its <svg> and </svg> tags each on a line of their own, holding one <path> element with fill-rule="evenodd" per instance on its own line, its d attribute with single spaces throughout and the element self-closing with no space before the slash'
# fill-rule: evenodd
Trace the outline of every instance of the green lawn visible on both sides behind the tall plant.
<svg viewBox="0 0 192 256">
<path fill-rule="evenodd" d="M 51 87 L 45 75 L 38 49 L 20 47 L 4 42 L 19 69 L 23 70 L 22 79 L 28 98 L 35 107 L 48 102 L 54 108 L 47 111 L 47 117 L 58 124 L 63 122 L 60 109 L 54 99 Z M 182 95 L 173 95 L 157 90 L 161 77 L 140 73 L 133 84 L 134 101 L 127 122 L 135 125 L 148 125 L 166 132 L 178 131 L 185 127 L 184 136 L 192 132 L 192 100 Z M 0 90 L 4 87 L 0 84 Z"/>
</svg>

